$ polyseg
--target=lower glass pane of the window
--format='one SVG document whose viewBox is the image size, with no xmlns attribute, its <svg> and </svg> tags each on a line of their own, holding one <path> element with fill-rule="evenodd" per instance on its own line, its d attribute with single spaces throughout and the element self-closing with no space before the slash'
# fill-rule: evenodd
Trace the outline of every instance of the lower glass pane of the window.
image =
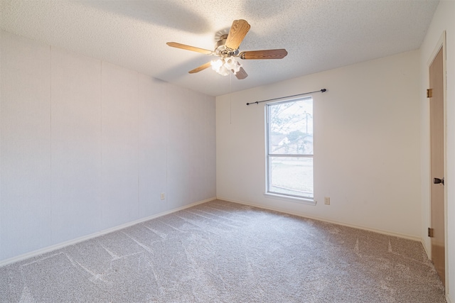
<svg viewBox="0 0 455 303">
<path fill-rule="evenodd" d="M 313 198 L 313 158 L 269 157 L 269 192 Z"/>
</svg>

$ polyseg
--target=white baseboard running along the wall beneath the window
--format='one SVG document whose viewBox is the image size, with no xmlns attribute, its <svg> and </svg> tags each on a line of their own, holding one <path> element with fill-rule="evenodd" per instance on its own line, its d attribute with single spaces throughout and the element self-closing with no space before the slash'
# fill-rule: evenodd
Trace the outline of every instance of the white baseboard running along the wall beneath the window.
<svg viewBox="0 0 455 303">
<path fill-rule="evenodd" d="M 238 203 L 238 204 L 255 206 L 255 207 L 259 208 L 259 209 L 268 209 L 268 210 L 271 210 L 271 211 L 279 211 L 279 212 L 282 212 L 284 214 L 291 214 L 291 215 L 294 215 L 294 216 L 300 216 L 302 218 L 314 219 L 314 220 L 323 221 L 323 222 L 327 222 L 327 223 L 338 224 L 338 225 L 341 225 L 341 226 L 347 226 L 347 227 L 352 227 L 352 228 L 363 229 L 364 231 L 373 231 L 375 233 L 382 233 L 382 234 L 387 235 L 387 236 L 395 236 L 395 237 L 398 237 L 398 238 L 405 238 L 405 239 L 412 240 L 412 241 L 422 242 L 422 238 L 419 238 L 419 237 L 416 237 L 416 236 L 407 235 L 405 233 L 395 233 L 395 232 L 392 232 L 392 231 L 384 231 L 382 229 L 370 228 L 370 227 L 367 227 L 367 226 L 360 226 L 360 225 L 355 225 L 355 224 L 346 224 L 345 222 L 329 220 L 329 219 L 325 219 L 325 218 L 321 218 L 321 217 L 317 217 L 317 216 L 307 216 L 306 214 L 297 213 L 295 211 L 286 211 L 286 210 L 283 210 L 283 209 L 279 209 L 279 207 L 269 207 L 269 206 L 264 206 L 264 205 L 261 205 L 261 204 L 255 204 L 255 203 L 244 202 L 244 201 L 237 201 L 237 200 L 232 200 L 232 199 L 223 198 L 223 197 L 217 197 L 217 199 L 228 201 L 228 202 L 233 202 L 233 203 Z"/>
</svg>

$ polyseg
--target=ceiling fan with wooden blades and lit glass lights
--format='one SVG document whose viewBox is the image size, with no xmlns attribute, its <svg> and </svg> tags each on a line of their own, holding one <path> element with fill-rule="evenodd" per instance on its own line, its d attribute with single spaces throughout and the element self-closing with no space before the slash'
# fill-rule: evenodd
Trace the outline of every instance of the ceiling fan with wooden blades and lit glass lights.
<svg viewBox="0 0 455 303">
<path fill-rule="evenodd" d="M 248 76 L 247 72 L 245 72 L 237 58 L 243 60 L 282 59 L 287 55 L 287 51 L 284 48 L 279 50 L 251 50 L 240 53 L 240 43 L 242 43 L 248 31 L 250 31 L 250 24 L 247 21 L 242 19 L 235 20 L 232 22 L 229 33 L 220 35 L 217 38 L 218 41 L 213 51 L 176 42 L 168 42 L 166 44 L 173 48 L 192 50 L 193 52 L 220 57 L 218 60 L 207 62 L 204 65 L 200 65 L 200 67 L 196 67 L 194 70 L 190 70 L 190 74 L 200 72 L 211 66 L 220 75 L 229 75 L 232 72 L 237 79 L 245 79 Z"/>
</svg>

